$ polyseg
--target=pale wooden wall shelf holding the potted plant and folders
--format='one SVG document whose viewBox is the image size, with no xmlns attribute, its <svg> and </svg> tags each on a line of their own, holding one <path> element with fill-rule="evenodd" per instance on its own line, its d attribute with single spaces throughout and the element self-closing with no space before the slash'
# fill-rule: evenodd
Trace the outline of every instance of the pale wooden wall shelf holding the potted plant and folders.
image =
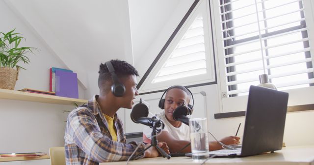
<svg viewBox="0 0 314 165">
<path fill-rule="evenodd" d="M 21 92 L 9 89 L 0 89 L 0 99 L 21 100 L 28 102 L 40 102 L 40 103 L 55 103 L 73 105 L 73 103 L 82 104 L 87 103 L 87 100 L 66 98 L 60 96 L 52 96 L 46 94 L 37 94 L 29 92 Z"/>
</svg>

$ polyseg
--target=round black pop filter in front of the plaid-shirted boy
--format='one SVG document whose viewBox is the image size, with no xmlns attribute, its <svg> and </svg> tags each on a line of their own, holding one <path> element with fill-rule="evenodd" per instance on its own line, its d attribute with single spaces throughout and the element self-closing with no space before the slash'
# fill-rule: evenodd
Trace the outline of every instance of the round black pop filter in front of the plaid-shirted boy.
<svg viewBox="0 0 314 165">
<path fill-rule="evenodd" d="M 140 102 L 135 104 L 131 111 L 131 120 L 134 123 L 138 123 L 137 120 L 140 117 L 147 117 L 148 116 L 148 106 L 142 102 L 142 99 L 140 99 Z"/>
</svg>

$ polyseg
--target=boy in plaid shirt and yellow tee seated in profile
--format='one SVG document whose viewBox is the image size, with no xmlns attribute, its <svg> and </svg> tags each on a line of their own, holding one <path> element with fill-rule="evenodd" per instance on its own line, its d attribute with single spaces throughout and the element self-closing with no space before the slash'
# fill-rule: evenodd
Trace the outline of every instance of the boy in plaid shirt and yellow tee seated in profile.
<svg viewBox="0 0 314 165">
<path fill-rule="evenodd" d="M 122 97 L 115 96 L 111 90 L 115 80 L 111 78 L 113 72 L 110 73 L 107 67 L 110 63 L 118 82 L 125 86 Z M 135 96 L 139 94 L 136 88 L 138 73 L 127 62 L 111 60 L 110 63 L 100 64 L 100 94 L 74 109 L 68 116 L 64 136 L 67 165 L 99 165 L 101 162 L 123 161 L 136 148 L 134 155 L 137 156 L 132 159 L 159 155 L 155 147 L 138 155 L 150 144 L 126 143 L 123 124 L 116 112 L 119 108 L 132 108 Z M 169 153 L 166 143 L 158 145 Z"/>
</svg>

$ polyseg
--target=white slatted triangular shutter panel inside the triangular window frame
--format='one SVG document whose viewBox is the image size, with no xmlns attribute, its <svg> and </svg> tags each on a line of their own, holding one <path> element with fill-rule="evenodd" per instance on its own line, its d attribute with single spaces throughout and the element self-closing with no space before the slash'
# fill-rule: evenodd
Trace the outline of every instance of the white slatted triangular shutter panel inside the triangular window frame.
<svg viewBox="0 0 314 165">
<path fill-rule="evenodd" d="M 198 15 L 152 83 L 206 74 L 204 25 Z"/>
</svg>

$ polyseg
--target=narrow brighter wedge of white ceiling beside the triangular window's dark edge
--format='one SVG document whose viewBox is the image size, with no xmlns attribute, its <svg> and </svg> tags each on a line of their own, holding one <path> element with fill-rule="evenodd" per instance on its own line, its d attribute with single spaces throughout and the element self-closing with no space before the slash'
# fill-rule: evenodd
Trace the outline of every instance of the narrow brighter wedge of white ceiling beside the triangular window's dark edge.
<svg viewBox="0 0 314 165">
<path fill-rule="evenodd" d="M 130 0 L 131 34 L 135 63 L 140 61 L 145 50 L 160 35 L 162 28 L 179 2 L 180 0 Z"/>
</svg>

